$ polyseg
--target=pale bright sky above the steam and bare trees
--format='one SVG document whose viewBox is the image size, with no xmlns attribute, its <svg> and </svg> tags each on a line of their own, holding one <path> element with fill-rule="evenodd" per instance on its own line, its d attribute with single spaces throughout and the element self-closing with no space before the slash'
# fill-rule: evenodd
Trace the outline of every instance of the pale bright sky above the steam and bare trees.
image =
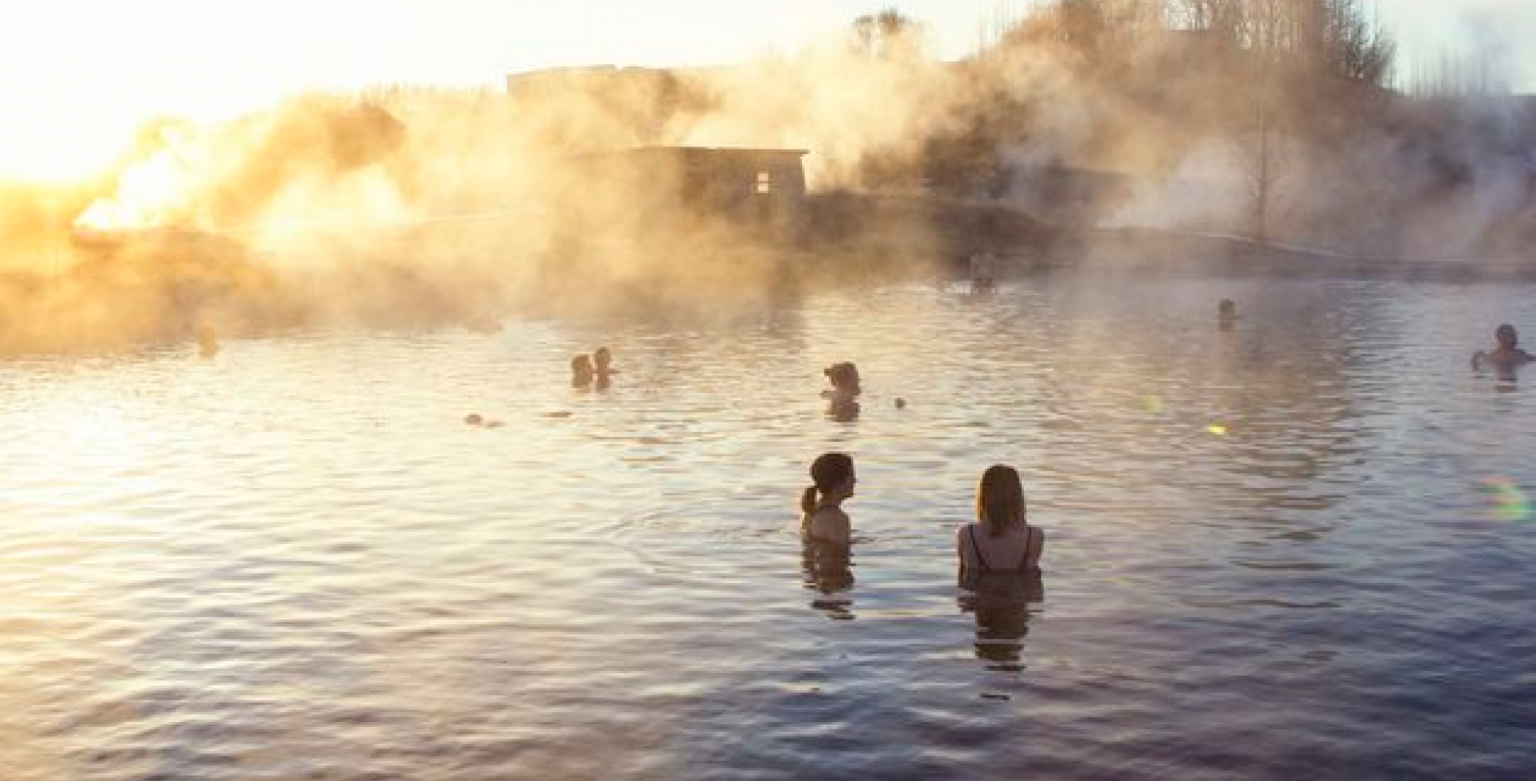
<svg viewBox="0 0 1536 781">
<path fill-rule="evenodd" d="M 215 120 L 306 89 L 495 86 L 559 65 L 790 55 L 891 5 L 955 58 L 1031 0 L 12 0 L 0 6 L 0 175 L 89 171 L 157 114 Z M 1476 46 L 1536 91 L 1531 0 L 1375 6 L 1404 71 Z"/>
</svg>

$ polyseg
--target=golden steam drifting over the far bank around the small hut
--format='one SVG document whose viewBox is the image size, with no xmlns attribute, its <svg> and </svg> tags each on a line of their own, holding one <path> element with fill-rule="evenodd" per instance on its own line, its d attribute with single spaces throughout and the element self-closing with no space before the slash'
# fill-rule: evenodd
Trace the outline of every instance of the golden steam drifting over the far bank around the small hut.
<svg viewBox="0 0 1536 781">
<path fill-rule="evenodd" d="M 201 324 L 740 312 L 814 269 L 806 251 L 836 263 L 829 232 L 839 248 L 931 258 L 998 240 L 932 221 L 942 209 L 877 218 L 826 195 L 799 235 L 765 240 L 677 198 L 676 171 L 604 157 L 636 146 L 808 149 L 820 194 L 1005 204 L 1078 231 L 1247 234 L 1247 123 L 1263 106 L 1276 117 L 1264 146 L 1275 238 L 1468 257 L 1530 237 L 1536 145 L 1521 103 L 1293 95 L 1243 69 L 1187 66 L 1174 34 L 1144 37 L 1127 72 L 1051 40 L 1005 38 L 962 63 L 932 61 L 912 40 L 152 123 L 100 181 L 0 192 L 0 354 L 184 338 Z"/>
</svg>

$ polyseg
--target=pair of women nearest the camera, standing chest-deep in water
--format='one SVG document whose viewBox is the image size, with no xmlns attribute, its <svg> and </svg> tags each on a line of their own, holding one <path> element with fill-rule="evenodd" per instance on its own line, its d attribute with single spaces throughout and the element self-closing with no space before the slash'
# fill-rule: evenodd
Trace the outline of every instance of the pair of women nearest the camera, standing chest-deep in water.
<svg viewBox="0 0 1536 781">
<path fill-rule="evenodd" d="M 846 549 L 852 520 L 843 501 L 854 495 L 859 477 L 848 454 L 822 454 L 811 463 L 811 486 L 800 495 L 800 533 L 813 543 Z M 1025 486 L 1018 470 L 995 464 L 982 472 L 975 487 L 975 521 L 955 530 L 955 557 L 963 575 L 1038 572 L 1046 532 L 1029 524 Z"/>
</svg>

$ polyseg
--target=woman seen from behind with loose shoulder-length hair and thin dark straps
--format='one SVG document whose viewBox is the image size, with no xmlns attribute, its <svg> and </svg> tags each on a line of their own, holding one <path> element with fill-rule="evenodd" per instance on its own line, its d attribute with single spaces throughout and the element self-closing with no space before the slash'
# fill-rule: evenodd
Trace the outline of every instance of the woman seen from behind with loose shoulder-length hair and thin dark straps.
<svg viewBox="0 0 1536 781">
<path fill-rule="evenodd" d="M 1029 573 L 1040 569 L 1046 532 L 1029 526 L 1025 486 L 1011 466 L 997 464 L 982 474 L 975 487 L 975 518 L 955 533 L 960 569 L 966 573 Z"/>
</svg>

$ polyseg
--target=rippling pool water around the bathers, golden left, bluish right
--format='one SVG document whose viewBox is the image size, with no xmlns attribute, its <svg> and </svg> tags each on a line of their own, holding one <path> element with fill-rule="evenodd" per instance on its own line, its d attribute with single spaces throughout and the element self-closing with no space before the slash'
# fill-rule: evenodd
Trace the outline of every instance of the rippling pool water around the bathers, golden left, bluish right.
<svg viewBox="0 0 1536 781">
<path fill-rule="evenodd" d="M 1058 278 L 3 364 L 0 778 L 1530 778 L 1501 320 L 1536 287 Z M 1043 598 L 955 587 L 994 461 Z"/>
</svg>

